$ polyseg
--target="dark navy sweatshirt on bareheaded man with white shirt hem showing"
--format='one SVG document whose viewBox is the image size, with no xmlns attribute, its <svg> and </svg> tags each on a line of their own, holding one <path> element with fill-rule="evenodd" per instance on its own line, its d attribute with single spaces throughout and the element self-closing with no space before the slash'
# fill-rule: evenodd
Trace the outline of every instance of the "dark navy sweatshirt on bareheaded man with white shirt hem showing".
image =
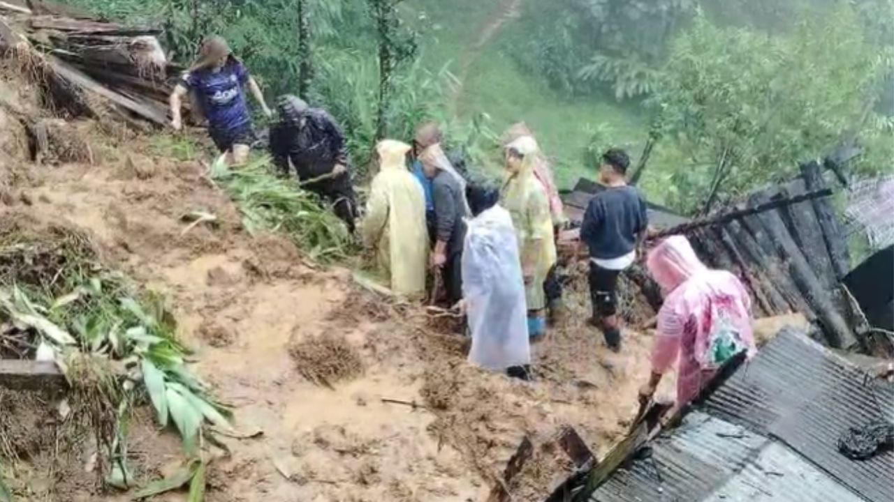
<svg viewBox="0 0 894 502">
<path fill-rule="evenodd" d="M 608 187 L 586 205 L 580 239 L 591 258 L 611 260 L 633 251 L 647 225 L 645 200 L 637 188 Z"/>
</svg>

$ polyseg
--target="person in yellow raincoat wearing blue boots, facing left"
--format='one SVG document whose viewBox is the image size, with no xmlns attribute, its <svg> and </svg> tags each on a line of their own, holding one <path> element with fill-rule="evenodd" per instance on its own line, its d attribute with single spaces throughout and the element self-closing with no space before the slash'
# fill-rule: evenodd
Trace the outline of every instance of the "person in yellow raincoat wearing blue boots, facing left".
<svg viewBox="0 0 894 502">
<path fill-rule="evenodd" d="M 527 330 L 533 338 L 541 337 L 546 330 L 544 280 L 556 263 L 549 199 L 534 174 L 538 155 L 534 138 L 523 136 L 512 141 L 506 147 L 506 178 L 500 190 L 500 205 L 509 211 L 519 238 Z"/>
</svg>

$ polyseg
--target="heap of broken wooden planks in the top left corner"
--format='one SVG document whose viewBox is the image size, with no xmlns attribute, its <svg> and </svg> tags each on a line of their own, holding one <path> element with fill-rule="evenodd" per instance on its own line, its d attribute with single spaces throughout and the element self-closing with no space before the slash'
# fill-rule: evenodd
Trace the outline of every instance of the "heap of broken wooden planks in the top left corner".
<svg viewBox="0 0 894 502">
<path fill-rule="evenodd" d="M 111 111 L 139 130 L 167 124 L 167 99 L 181 71 L 167 62 L 160 32 L 47 2 L 0 2 L 0 54 L 42 85 L 49 105 L 92 118 Z"/>
</svg>

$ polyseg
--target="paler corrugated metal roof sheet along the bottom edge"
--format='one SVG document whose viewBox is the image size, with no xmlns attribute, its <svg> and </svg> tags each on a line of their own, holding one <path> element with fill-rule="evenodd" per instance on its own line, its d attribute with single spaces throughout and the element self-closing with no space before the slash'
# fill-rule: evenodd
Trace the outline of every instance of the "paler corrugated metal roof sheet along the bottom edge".
<svg viewBox="0 0 894 502">
<path fill-rule="evenodd" d="M 652 460 L 621 469 L 595 502 L 862 502 L 790 448 L 694 412 L 650 445 Z"/>
</svg>

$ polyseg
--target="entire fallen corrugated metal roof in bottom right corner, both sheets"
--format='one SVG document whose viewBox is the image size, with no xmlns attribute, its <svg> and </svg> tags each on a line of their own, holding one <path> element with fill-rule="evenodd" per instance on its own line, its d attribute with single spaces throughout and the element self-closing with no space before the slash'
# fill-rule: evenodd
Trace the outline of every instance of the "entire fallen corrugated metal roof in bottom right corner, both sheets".
<svg viewBox="0 0 894 502">
<path fill-rule="evenodd" d="M 853 461 L 848 427 L 894 419 L 894 387 L 783 330 L 676 429 L 652 441 L 595 502 L 894 500 L 894 453 Z"/>
</svg>

